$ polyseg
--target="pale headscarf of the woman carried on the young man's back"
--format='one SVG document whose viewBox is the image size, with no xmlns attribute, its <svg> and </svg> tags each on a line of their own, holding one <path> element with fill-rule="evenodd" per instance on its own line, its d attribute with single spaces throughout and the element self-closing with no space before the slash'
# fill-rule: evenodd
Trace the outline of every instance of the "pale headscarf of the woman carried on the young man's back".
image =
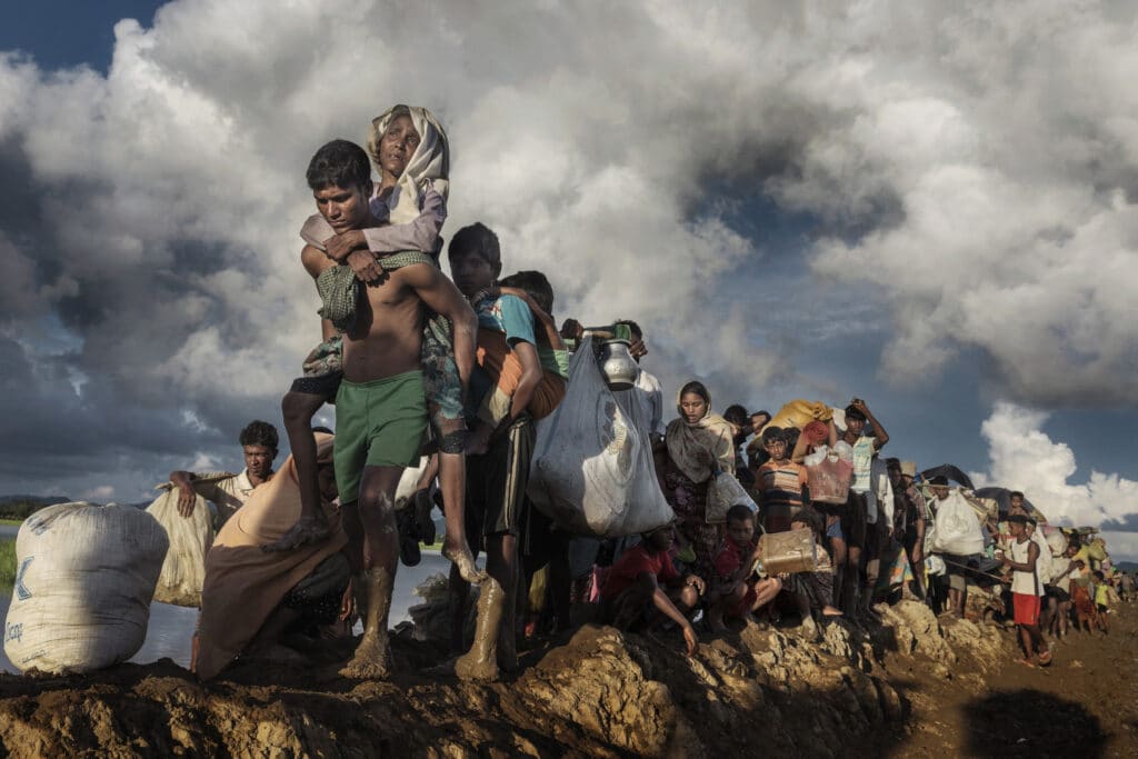
<svg viewBox="0 0 1138 759">
<path fill-rule="evenodd" d="M 407 162 L 406 168 L 399 175 L 387 198 L 387 207 L 390 208 L 389 220 L 393 224 L 407 224 L 413 222 L 420 213 L 422 192 L 430 181 L 435 191 L 446 199 L 450 187 L 451 173 L 451 149 L 446 140 L 446 132 L 436 121 L 429 110 L 419 106 L 393 106 L 384 115 L 371 121 L 371 131 L 368 133 L 368 155 L 371 156 L 372 164 L 382 176 L 379 166 L 379 143 L 387 131 L 387 126 L 395 117 L 395 112 L 401 114 L 406 109 L 411 115 L 411 123 L 419 132 L 419 147 Z"/>
</svg>

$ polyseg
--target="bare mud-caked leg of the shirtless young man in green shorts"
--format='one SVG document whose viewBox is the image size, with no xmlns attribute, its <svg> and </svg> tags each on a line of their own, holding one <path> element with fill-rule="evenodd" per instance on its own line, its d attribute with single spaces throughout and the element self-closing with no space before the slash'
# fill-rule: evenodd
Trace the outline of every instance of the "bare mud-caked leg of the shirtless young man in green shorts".
<svg viewBox="0 0 1138 759">
<path fill-rule="evenodd" d="M 368 467 L 360 485 L 358 513 L 363 526 L 363 571 L 355 578 L 356 604 L 362 609 L 363 637 L 352 661 L 340 670 L 345 677 L 386 678 L 391 662 L 387 618 L 399 560 L 395 522 L 395 488 L 402 467 Z"/>
</svg>

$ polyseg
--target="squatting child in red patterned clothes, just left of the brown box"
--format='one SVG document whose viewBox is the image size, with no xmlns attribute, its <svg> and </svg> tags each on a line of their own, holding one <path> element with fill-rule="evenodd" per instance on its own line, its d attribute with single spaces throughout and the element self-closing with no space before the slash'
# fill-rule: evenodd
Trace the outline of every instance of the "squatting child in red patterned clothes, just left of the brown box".
<svg viewBox="0 0 1138 759">
<path fill-rule="evenodd" d="M 712 632 L 726 629 L 725 618 L 745 619 L 778 595 L 780 579 L 754 576 L 754 566 L 761 558 L 759 542 L 754 539 L 754 514 L 736 503 L 727 510 L 727 537 L 712 562 L 716 578 L 708 608 Z"/>
</svg>

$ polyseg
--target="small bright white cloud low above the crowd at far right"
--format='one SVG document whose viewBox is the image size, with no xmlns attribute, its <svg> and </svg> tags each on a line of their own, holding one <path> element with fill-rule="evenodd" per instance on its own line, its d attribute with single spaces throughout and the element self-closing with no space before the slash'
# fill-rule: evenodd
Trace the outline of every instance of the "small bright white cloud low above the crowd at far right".
<svg viewBox="0 0 1138 759">
<path fill-rule="evenodd" d="M 1091 470 L 1073 484 L 1074 452 L 1042 431 L 1046 421 L 1045 412 L 997 403 L 981 427 L 990 463 L 973 473 L 976 486 L 1022 490 L 1053 523 L 1138 531 L 1138 481 Z"/>
</svg>

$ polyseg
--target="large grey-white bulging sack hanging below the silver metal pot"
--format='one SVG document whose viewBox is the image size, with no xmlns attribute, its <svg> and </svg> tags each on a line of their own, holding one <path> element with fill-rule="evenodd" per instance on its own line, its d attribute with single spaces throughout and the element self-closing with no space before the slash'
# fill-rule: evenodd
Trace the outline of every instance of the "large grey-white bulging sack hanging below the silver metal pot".
<svg viewBox="0 0 1138 759">
<path fill-rule="evenodd" d="M 675 518 L 634 391 L 609 389 L 586 338 L 569 365 L 564 399 L 537 423 L 528 494 L 571 533 L 622 537 Z"/>
</svg>

